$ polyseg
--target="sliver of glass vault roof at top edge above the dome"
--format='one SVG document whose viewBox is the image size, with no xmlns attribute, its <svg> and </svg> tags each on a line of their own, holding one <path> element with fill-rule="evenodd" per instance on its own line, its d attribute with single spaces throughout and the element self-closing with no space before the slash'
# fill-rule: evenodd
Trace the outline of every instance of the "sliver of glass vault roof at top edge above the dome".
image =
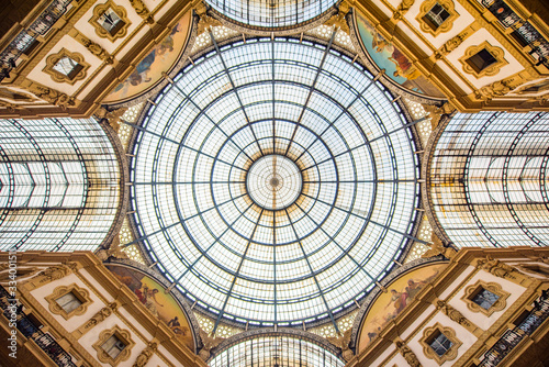
<svg viewBox="0 0 549 367">
<path fill-rule="evenodd" d="M 337 0 L 205 1 L 232 20 L 262 27 L 284 27 L 310 21 L 337 2 Z"/>
</svg>

